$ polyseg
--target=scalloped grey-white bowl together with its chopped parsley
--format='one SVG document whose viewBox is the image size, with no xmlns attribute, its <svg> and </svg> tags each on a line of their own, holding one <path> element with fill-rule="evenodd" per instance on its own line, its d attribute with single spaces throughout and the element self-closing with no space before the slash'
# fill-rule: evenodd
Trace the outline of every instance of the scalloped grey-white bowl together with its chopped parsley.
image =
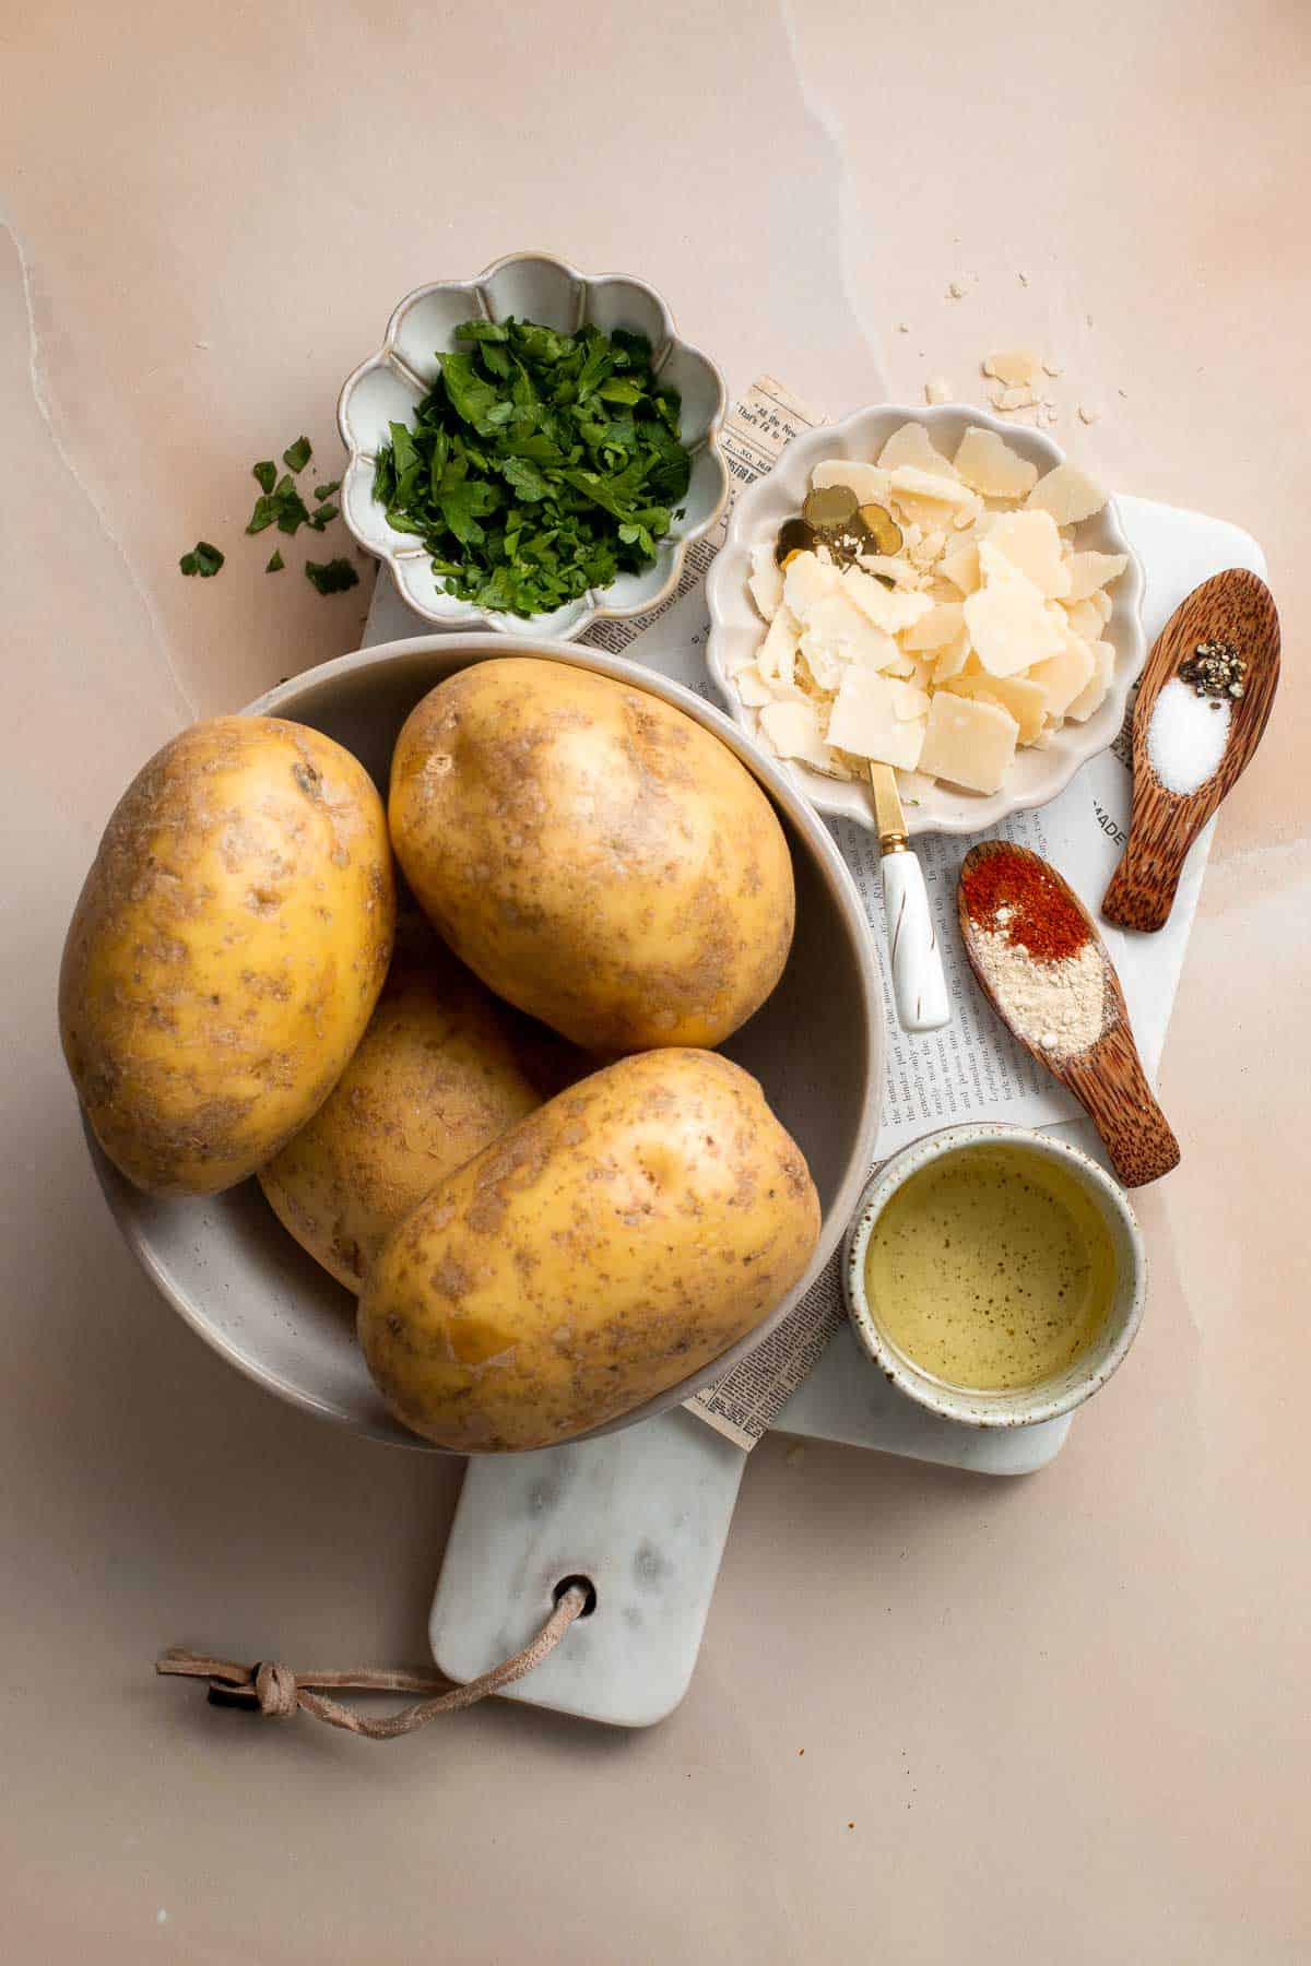
<svg viewBox="0 0 1311 1966">
<path fill-rule="evenodd" d="M 649 287 L 515 256 L 411 295 L 350 377 L 342 511 L 427 619 L 576 635 L 674 586 L 725 501 L 721 411 Z"/>
</svg>

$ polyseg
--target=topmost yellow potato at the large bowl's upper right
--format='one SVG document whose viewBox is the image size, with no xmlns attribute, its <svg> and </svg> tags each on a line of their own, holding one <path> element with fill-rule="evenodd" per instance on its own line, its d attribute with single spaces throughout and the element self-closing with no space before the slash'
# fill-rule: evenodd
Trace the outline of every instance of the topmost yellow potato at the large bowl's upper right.
<svg viewBox="0 0 1311 1966">
<path fill-rule="evenodd" d="M 507 657 L 438 684 L 391 761 L 415 895 L 499 997 L 603 1052 L 713 1046 L 792 944 L 792 861 L 749 771 L 645 690 Z"/>
</svg>

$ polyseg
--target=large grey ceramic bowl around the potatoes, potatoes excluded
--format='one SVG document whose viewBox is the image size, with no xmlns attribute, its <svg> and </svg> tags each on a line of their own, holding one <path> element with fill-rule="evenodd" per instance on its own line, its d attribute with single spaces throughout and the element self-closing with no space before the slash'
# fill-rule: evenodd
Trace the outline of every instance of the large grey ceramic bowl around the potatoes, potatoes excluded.
<svg viewBox="0 0 1311 1966">
<path fill-rule="evenodd" d="M 660 1414 L 717 1378 L 786 1317 L 837 1248 L 873 1160 L 883 1097 L 883 991 L 865 908 L 827 828 L 796 786 L 725 716 L 664 676 L 596 649 L 501 635 L 432 635 L 387 643 L 311 668 L 250 704 L 246 716 L 293 718 L 344 743 L 387 788 L 401 723 L 421 696 L 472 663 L 535 655 L 613 676 L 674 704 L 721 737 L 774 804 L 796 875 L 796 938 L 774 993 L 723 1046 L 765 1087 L 814 1176 L 824 1211 L 806 1276 L 739 1345 L 706 1370 L 598 1433 Z M 816 1016 L 816 1005 L 824 1016 Z M 356 1345 L 356 1300 L 281 1227 L 259 1184 L 222 1195 L 143 1195 L 86 1142 L 118 1227 L 169 1303 L 230 1364 L 279 1398 L 356 1433 L 427 1449 L 399 1425 Z"/>
</svg>

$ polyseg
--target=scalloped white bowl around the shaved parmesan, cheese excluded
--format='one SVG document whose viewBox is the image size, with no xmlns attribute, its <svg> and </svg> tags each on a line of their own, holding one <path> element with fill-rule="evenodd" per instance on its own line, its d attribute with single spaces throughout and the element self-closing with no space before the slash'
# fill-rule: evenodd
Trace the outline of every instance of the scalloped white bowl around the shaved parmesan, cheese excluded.
<svg viewBox="0 0 1311 1966">
<path fill-rule="evenodd" d="M 710 570 L 710 641 L 706 661 L 710 674 L 729 706 L 731 716 L 753 737 L 759 733 L 759 712 L 747 710 L 729 680 L 729 668 L 743 657 L 751 657 L 765 639 L 747 576 L 751 574 L 751 549 L 763 541 L 772 541 L 784 519 L 802 509 L 802 499 L 810 490 L 810 474 L 824 458 L 863 458 L 875 462 L 892 431 L 902 423 L 922 423 L 930 438 L 947 456 L 955 452 L 961 436 L 971 425 L 997 431 L 1012 450 L 1030 458 L 1042 474 L 1065 462 L 1065 452 L 1052 442 L 1046 431 L 1034 431 L 1018 423 L 1000 423 L 981 409 L 963 403 L 947 403 L 941 409 L 906 409 L 898 403 L 879 403 L 873 409 L 857 409 L 841 423 L 824 425 L 796 436 L 782 458 L 741 493 L 733 507 L 729 537 Z M 1087 519 L 1075 533 L 1081 550 L 1089 547 L 1097 552 L 1126 552 L 1128 566 L 1111 588 L 1114 611 L 1105 627 L 1105 639 L 1114 647 L 1114 678 L 1101 710 L 1087 723 L 1067 723 L 1046 751 L 1022 749 L 1006 777 L 1000 792 L 985 796 L 963 792 L 945 784 L 936 784 L 924 798 L 906 806 L 906 824 L 912 834 L 979 834 L 997 826 L 1012 812 L 1026 806 L 1046 806 L 1050 798 L 1063 792 L 1079 765 L 1105 751 L 1120 733 L 1128 692 L 1148 659 L 1148 645 L 1142 633 L 1142 568 L 1124 537 L 1114 501 L 1107 503 L 1097 517 Z M 763 743 L 763 739 L 759 739 Z M 769 745 L 763 745 L 769 749 Z M 863 784 L 841 779 L 826 779 L 806 765 L 784 767 L 806 796 L 829 818 L 857 820 L 861 826 L 875 824 L 869 790 Z"/>
</svg>

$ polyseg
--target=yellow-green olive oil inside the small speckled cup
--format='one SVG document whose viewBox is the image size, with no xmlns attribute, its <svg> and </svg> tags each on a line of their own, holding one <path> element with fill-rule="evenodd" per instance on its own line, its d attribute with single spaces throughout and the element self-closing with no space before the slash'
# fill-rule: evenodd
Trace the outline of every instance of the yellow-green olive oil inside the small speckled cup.
<svg viewBox="0 0 1311 1966">
<path fill-rule="evenodd" d="M 873 1227 L 875 1323 L 922 1372 L 973 1392 L 1055 1378 L 1097 1339 L 1114 1296 L 1107 1223 L 1059 1162 L 967 1146 L 896 1189 Z"/>
</svg>

